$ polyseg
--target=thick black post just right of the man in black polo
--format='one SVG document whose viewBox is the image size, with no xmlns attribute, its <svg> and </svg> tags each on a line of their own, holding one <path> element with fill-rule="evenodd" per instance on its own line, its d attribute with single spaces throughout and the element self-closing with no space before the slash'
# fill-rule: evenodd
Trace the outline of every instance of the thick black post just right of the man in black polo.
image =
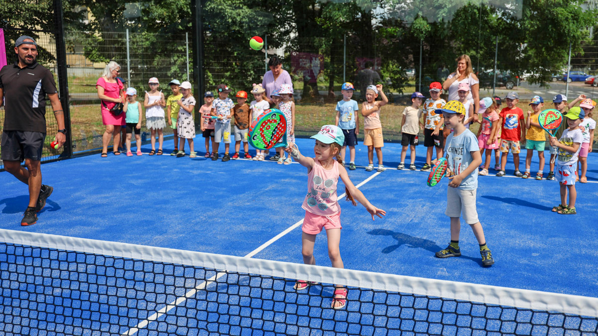
<svg viewBox="0 0 598 336">
<path fill-rule="evenodd" d="M 66 142 L 60 157 L 71 158 L 73 154 L 71 109 L 69 106 L 69 82 L 66 73 L 66 45 L 65 30 L 63 26 L 62 0 L 54 0 L 54 38 L 56 39 L 56 72 L 58 75 L 58 88 L 60 90 L 60 104 L 65 116 Z"/>
</svg>

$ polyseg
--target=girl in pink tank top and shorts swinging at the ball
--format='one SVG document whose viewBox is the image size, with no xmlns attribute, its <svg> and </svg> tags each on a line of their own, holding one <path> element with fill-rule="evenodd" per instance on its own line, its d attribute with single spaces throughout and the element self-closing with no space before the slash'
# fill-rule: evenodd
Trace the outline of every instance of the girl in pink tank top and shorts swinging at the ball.
<svg viewBox="0 0 598 336">
<path fill-rule="evenodd" d="M 285 148 L 285 151 L 295 161 L 307 168 L 307 194 L 303 200 L 303 206 L 301 206 L 305 209 L 305 218 L 301 227 L 303 231 L 301 236 L 303 263 L 316 264 L 313 246 L 316 242 L 316 235 L 322 231 L 322 228 L 325 228 L 328 238 L 328 256 L 332 267 L 344 268 L 338 248 L 341 229 L 340 206 L 337 201 L 338 178 L 343 180 L 345 185 L 346 199 L 352 201 L 353 205 L 357 204 L 355 200 L 359 201 L 371 214 L 372 220 L 374 220 L 374 215 L 382 218 L 386 212 L 373 206 L 349 179 L 340 158 L 340 149 L 344 142 L 343 131 L 338 126 L 324 125 L 320 132 L 312 138 L 316 139 L 316 145 L 313 148 L 315 157 L 313 158 L 301 155 L 297 145 L 292 142 Z M 301 291 L 315 284 L 307 280 L 297 280 L 294 288 Z M 337 285 L 331 307 L 340 309 L 346 306 L 347 294 L 346 288 Z"/>
</svg>

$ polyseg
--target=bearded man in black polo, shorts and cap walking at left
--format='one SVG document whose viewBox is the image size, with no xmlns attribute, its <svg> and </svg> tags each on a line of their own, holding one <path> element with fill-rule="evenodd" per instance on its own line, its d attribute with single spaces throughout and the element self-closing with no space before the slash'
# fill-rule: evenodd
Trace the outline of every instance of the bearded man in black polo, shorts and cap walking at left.
<svg viewBox="0 0 598 336">
<path fill-rule="evenodd" d="M 58 99 L 54 77 L 36 62 L 37 44 L 29 36 L 15 42 L 19 60 L 0 70 L 0 106 L 4 98 L 2 161 L 4 169 L 29 185 L 29 206 L 21 225 L 37 222 L 36 212 L 45 206 L 53 188 L 41 184 L 41 156 L 46 133 L 45 95 L 48 95 L 58 123 L 56 142 L 65 143 L 66 129 L 62 105 Z M 25 160 L 27 169 L 21 166 Z"/>
</svg>

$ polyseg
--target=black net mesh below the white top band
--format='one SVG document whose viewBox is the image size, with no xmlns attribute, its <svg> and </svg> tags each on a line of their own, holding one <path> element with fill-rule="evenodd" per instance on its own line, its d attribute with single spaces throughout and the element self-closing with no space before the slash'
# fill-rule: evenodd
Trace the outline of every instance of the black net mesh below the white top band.
<svg viewBox="0 0 598 336">
<path fill-rule="evenodd" d="M 596 335 L 598 319 L 0 244 L 5 335 Z"/>
</svg>

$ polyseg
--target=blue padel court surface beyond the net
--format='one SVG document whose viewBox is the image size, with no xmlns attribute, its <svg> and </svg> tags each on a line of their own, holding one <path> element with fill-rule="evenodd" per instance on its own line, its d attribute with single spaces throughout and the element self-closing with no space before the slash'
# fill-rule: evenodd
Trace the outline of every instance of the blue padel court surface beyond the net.
<svg viewBox="0 0 598 336">
<path fill-rule="evenodd" d="M 172 151 L 172 139 L 164 143 L 164 152 Z M 274 161 L 211 161 L 203 157 L 203 138 L 195 143 L 200 156 L 193 159 L 149 156 L 146 145 L 141 157 L 94 154 L 43 164 L 44 184 L 54 193 L 30 227 L 20 226 L 26 185 L 2 172 L 0 228 L 301 263 L 298 222 L 304 216 L 306 169 Z M 303 154 L 313 154 L 313 140 L 297 139 L 297 144 Z M 577 215 L 551 212 L 560 203 L 557 182 L 515 178 L 510 154 L 507 176 L 493 176 L 492 169 L 480 176 L 477 210 L 496 261 L 482 268 L 466 224 L 460 237 L 463 255 L 434 256 L 450 241 L 444 215 L 447 179 L 431 188 L 428 172 L 393 169 L 401 152 L 397 143 L 383 148 L 391 169 L 366 172 L 367 148 L 356 149 L 358 169 L 349 176 L 387 214 L 372 221 L 361 204 L 339 201 L 346 268 L 598 297 L 598 155 L 588 157 L 588 183 L 576 184 Z M 418 168 L 424 155 L 425 148 L 417 146 Z M 535 155 L 532 176 L 537 167 Z M 338 194 L 343 191 L 340 183 Z M 330 265 L 325 233 L 316 240 L 315 257 L 318 265 Z"/>
</svg>

